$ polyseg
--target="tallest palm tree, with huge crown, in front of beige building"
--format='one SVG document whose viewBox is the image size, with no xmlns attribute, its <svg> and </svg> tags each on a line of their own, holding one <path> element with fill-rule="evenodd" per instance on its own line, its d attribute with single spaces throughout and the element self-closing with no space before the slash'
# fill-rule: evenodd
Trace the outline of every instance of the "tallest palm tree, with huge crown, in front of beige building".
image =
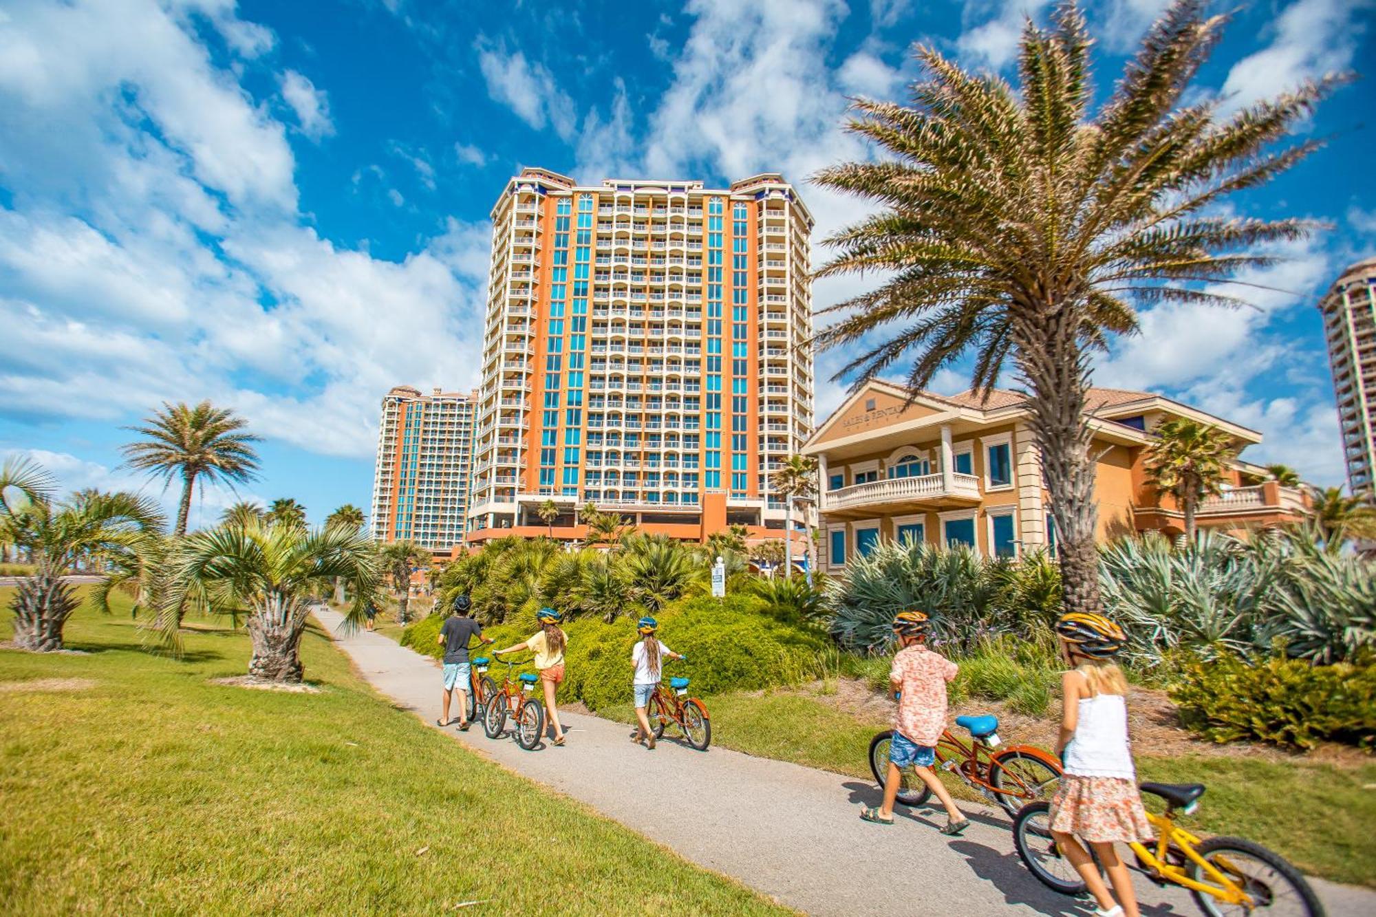
<svg viewBox="0 0 1376 917">
<path fill-rule="evenodd" d="M 1055 8 L 1050 29 L 1024 28 L 1017 88 L 921 47 L 911 106 L 854 103 L 850 129 L 890 156 L 816 179 L 882 208 L 826 240 L 837 255 L 819 275 L 886 280 L 832 307 L 848 314 L 815 343 L 859 348 L 837 375 L 856 388 L 911 361 L 918 391 L 969 351 L 978 390 L 1011 369 L 1028 392 L 1068 610 L 1102 606 L 1086 412 L 1093 352 L 1137 330 L 1137 303 L 1238 306 L 1198 282 L 1267 266 L 1274 259 L 1249 246 L 1314 229 L 1218 205 L 1315 149 L 1271 146 L 1339 80 L 1221 114 L 1190 85 L 1226 23 L 1204 6 L 1174 0 L 1093 114 L 1091 40 L 1073 1 Z M 875 343 L 881 329 L 893 330 Z"/>
</svg>

